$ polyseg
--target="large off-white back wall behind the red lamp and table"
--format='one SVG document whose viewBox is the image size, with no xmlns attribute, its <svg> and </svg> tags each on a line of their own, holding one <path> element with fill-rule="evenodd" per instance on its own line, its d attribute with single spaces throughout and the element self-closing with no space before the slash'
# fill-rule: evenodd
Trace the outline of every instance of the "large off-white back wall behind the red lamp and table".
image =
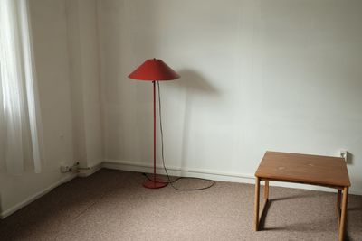
<svg viewBox="0 0 362 241">
<path fill-rule="evenodd" d="M 248 177 L 266 150 L 343 148 L 362 193 L 361 11 L 338 0 L 99 1 L 106 159 L 152 162 L 151 84 L 127 76 L 156 57 L 182 76 L 161 83 L 168 166 Z"/>
</svg>

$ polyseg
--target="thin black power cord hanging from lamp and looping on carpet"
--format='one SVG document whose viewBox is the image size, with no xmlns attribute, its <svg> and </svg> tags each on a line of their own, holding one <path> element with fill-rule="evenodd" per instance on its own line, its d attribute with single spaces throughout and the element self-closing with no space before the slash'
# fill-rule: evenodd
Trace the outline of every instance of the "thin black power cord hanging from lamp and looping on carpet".
<svg viewBox="0 0 362 241">
<path fill-rule="evenodd" d="M 161 154 L 162 154 L 162 164 L 163 164 L 163 167 L 164 167 L 164 170 L 166 172 L 166 175 L 167 175 L 167 180 L 168 181 L 165 181 L 163 183 L 169 183 L 175 190 L 206 190 L 206 189 L 209 189 L 211 187 L 214 186 L 215 184 L 215 181 L 213 180 L 209 180 L 209 179 L 203 179 L 203 178 L 194 178 L 194 177 L 178 177 L 176 178 L 175 180 L 171 181 L 171 178 L 170 176 L 168 175 L 168 171 L 167 171 L 167 168 L 166 168 L 166 164 L 165 164 L 165 154 L 164 154 L 164 131 L 163 131 L 163 128 L 162 128 L 162 107 L 161 107 L 161 93 L 160 93 L 160 90 L 159 90 L 159 82 L 157 81 L 157 92 L 158 92 L 158 113 L 159 113 L 159 129 L 160 129 L 160 132 L 161 132 Z M 150 179 L 148 177 L 148 175 L 146 173 L 144 173 L 144 175 L 148 178 L 148 180 L 150 181 L 153 181 L 152 179 Z M 185 180 L 185 179 L 192 179 L 192 180 L 201 180 L 201 181 L 209 181 L 211 182 L 209 185 L 207 185 L 206 187 L 202 187 L 202 188 L 198 188 L 198 189 L 180 189 L 180 188 L 177 188 L 174 183 L 176 181 L 180 181 L 180 180 Z"/>
</svg>

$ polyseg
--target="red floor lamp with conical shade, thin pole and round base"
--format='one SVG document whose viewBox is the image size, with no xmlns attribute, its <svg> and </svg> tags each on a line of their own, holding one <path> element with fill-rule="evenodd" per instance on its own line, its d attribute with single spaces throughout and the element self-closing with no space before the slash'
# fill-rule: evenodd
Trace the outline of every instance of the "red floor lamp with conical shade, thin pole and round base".
<svg viewBox="0 0 362 241">
<path fill-rule="evenodd" d="M 153 84 L 153 177 L 143 182 L 148 189 L 159 189 L 167 186 L 156 175 L 156 81 L 178 79 L 180 76 L 162 60 L 146 60 L 136 70 L 129 74 L 130 79 L 152 81 Z"/>
</svg>

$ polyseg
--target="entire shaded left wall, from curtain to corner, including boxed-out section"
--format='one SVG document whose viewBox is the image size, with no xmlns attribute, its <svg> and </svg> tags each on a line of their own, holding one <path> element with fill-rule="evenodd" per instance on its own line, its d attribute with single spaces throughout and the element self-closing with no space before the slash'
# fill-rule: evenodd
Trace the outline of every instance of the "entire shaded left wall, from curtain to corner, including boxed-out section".
<svg viewBox="0 0 362 241">
<path fill-rule="evenodd" d="M 29 3 L 45 166 L 40 174 L 0 173 L 0 217 L 75 177 L 61 173 L 61 164 L 92 167 L 103 159 L 96 1 Z"/>
</svg>

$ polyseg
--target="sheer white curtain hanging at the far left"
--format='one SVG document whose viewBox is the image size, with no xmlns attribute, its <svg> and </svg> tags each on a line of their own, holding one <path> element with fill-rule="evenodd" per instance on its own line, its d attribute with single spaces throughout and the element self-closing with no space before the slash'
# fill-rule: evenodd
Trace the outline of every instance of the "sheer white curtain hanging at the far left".
<svg viewBox="0 0 362 241">
<path fill-rule="evenodd" d="M 27 0 L 0 0 L 0 168 L 43 162 L 42 123 Z"/>
</svg>

